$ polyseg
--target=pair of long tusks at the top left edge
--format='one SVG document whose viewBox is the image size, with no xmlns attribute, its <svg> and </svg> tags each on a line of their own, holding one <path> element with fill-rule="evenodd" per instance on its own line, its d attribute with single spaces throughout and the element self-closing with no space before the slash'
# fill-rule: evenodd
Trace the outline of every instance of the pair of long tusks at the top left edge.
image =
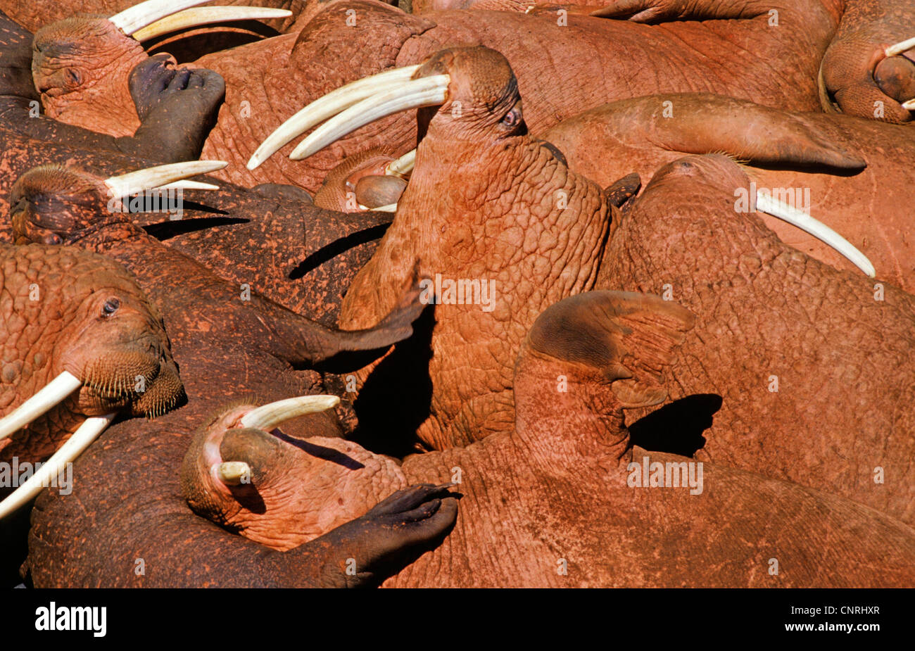
<svg viewBox="0 0 915 651">
<path fill-rule="evenodd" d="M 260 6 L 205 6 L 208 0 L 146 0 L 139 5 L 124 9 L 109 20 L 128 37 L 138 41 L 149 40 L 176 32 L 179 29 L 211 25 L 231 20 L 269 20 L 288 18 L 291 11 L 270 9 Z"/>
</svg>

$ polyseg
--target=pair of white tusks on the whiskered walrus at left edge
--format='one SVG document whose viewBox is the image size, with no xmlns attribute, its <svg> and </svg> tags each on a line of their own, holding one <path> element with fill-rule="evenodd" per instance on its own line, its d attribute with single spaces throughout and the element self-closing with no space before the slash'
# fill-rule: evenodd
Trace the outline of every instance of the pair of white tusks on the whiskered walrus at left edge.
<svg viewBox="0 0 915 651">
<path fill-rule="evenodd" d="M 67 400 L 73 392 L 80 390 L 81 386 L 81 379 L 69 371 L 63 371 L 42 390 L 19 405 L 15 411 L 0 419 L 0 440 L 25 427 L 60 402 Z M 0 520 L 27 504 L 38 495 L 42 487 L 48 486 L 48 482 L 53 477 L 59 475 L 67 464 L 78 457 L 90 443 L 98 438 L 99 434 L 104 432 L 108 424 L 113 421 L 114 416 L 113 413 L 105 416 L 91 416 L 82 422 L 76 432 L 73 432 L 58 451 L 52 454 L 51 458 L 27 479 L 25 484 L 16 488 L 11 495 L 0 502 Z"/>
</svg>

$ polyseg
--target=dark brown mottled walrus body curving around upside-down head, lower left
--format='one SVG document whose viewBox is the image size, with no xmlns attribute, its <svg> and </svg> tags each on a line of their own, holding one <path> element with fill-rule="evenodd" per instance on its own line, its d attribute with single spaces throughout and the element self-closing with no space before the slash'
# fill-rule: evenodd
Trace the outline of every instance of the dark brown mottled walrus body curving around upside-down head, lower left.
<svg viewBox="0 0 915 651">
<path fill-rule="evenodd" d="M 239 405 L 319 392 L 321 386 L 317 374 L 293 371 L 261 348 L 186 327 L 178 322 L 171 332 L 188 377 L 188 404 L 156 421 L 113 425 L 74 464 L 70 496 L 46 491 L 38 497 L 26 566 L 36 586 L 372 585 L 447 533 L 457 505 L 432 486 L 369 505 L 371 512 L 285 554 L 192 513 L 178 470 L 196 428 L 224 413 L 227 402 L 239 414 Z M 297 439 L 332 438 L 339 425 L 333 412 L 318 413 L 285 423 L 283 431 Z M 135 571 L 137 559 L 143 572 Z M 349 559 L 357 562 L 354 576 L 347 573 Z"/>
</svg>

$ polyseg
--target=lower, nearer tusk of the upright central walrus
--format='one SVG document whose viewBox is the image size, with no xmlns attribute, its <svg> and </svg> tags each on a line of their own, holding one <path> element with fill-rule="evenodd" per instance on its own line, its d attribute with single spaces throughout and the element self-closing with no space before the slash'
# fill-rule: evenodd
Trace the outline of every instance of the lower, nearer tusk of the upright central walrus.
<svg viewBox="0 0 915 651">
<path fill-rule="evenodd" d="M 293 160 L 307 158 L 347 133 L 392 113 L 421 106 L 437 106 L 445 101 L 450 80 L 448 75 L 422 77 L 404 81 L 390 91 L 372 95 L 321 124 L 296 146 L 289 157 Z"/>
</svg>

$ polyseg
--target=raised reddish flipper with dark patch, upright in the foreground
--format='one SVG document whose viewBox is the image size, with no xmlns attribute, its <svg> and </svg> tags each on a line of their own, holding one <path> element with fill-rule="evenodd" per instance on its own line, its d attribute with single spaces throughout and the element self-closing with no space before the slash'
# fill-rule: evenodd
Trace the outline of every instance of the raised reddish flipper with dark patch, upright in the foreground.
<svg viewBox="0 0 915 651">
<path fill-rule="evenodd" d="M 585 292 L 544 310 L 515 366 L 515 429 L 542 454 L 619 458 L 622 410 L 667 398 L 663 370 L 694 316 L 659 296 Z M 574 462 L 573 462 L 574 463 Z"/>
</svg>

